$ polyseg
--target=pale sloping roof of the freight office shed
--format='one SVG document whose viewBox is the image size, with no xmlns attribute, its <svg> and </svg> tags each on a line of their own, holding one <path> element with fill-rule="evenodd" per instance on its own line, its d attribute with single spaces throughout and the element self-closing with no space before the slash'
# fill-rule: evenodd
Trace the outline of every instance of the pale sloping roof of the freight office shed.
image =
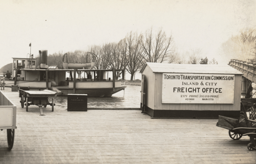
<svg viewBox="0 0 256 164">
<path fill-rule="evenodd" d="M 243 74 L 229 65 L 221 64 L 172 64 L 172 63 L 146 63 L 141 69 L 142 73 L 148 66 L 154 73 L 205 73 L 205 74 Z"/>
</svg>

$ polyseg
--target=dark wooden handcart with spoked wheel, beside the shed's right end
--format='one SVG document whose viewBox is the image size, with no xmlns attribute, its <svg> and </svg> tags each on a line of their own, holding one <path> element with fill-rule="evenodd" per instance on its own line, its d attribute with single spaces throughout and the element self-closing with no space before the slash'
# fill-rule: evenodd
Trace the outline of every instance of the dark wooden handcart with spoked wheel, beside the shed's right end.
<svg viewBox="0 0 256 164">
<path fill-rule="evenodd" d="M 242 136 L 248 135 L 250 137 L 250 143 L 247 145 L 248 150 L 256 150 L 256 120 L 247 117 L 248 112 L 246 112 L 244 105 L 256 108 L 256 103 L 241 101 L 244 122 L 240 122 L 239 119 L 219 116 L 216 126 L 228 129 L 228 134 L 233 140 L 239 140 Z"/>
</svg>

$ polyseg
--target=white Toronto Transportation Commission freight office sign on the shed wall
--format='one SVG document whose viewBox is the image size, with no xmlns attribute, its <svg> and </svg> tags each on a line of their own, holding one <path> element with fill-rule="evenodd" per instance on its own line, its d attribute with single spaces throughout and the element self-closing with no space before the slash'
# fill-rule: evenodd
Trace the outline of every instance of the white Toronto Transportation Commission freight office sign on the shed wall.
<svg viewBox="0 0 256 164">
<path fill-rule="evenodd" d="M 163 73 L 162 103 L 225 103 L 234 100 L 234 75 Z"/>
</svg>

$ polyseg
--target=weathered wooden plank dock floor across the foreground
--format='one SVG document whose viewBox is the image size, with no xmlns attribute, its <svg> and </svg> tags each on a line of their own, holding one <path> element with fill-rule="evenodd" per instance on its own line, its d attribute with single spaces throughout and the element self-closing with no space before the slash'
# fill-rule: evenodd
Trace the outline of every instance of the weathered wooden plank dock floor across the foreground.
<svg viewBox="0 0 256 164">
<path fill-rule="evenodd" d="M 233 141 L 217 120 L 151 119 L 140 111 L 67 112 L 21 108 L 17 92 L 13 149 L 0 131 L 0 163 L 256 163 L 249 138 Z"/>
</svg>

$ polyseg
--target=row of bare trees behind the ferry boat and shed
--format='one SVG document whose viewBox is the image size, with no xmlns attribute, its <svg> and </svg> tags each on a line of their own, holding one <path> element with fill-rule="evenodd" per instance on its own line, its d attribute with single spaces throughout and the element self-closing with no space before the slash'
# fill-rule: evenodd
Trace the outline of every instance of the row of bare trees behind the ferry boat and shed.
<svg viewBox="0 0 256 164">
<path fill-rule="evenodd" d="M 95 69 L 126 69 L 131 74 L 131 80 L 145 62 L 177 62 L 173 37 L 166 36 L 162 29 L 156 34 L 153 33 L 153 29 L 143 34 L 130 32 L 119 42 L 92 45 L 87 51 L 59 51 L 48 54 L 48 65 L 57 65 L 62 68 L 64 53 L 68 54 L 69 63 L 94 62 Z M 38 58 L 36 59 L 38 65 Z M 120 73 L 117 72 L 116 76 L 118 77 Z"/>
</svg>

